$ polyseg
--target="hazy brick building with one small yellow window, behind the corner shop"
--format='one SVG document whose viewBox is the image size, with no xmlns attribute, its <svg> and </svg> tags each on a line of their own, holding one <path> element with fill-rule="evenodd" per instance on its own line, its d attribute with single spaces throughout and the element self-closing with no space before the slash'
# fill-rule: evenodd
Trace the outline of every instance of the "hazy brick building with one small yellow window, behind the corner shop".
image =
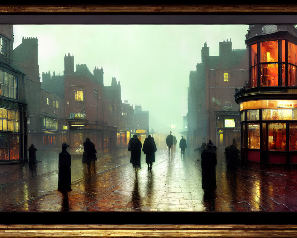
<svg viewBox="0 0 297 238">
<path fill-rule="evenodd" d="M 193 149 L 211 140 L 218 148 L 240 138 L 240 118 L 235 90 L 248 76 L 246 49 L 232 50 L 231 39 L 219 42 L 219 56 L 210 56 L 206 43 L 201 63 L 189 73 L 188 143 Z"/>
</svg>

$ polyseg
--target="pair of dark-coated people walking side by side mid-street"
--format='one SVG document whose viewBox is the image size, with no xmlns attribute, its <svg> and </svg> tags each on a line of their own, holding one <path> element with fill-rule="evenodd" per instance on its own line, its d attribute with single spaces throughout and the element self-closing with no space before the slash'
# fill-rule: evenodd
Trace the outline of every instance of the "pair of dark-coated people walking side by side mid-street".
<svg viewBox="0 0 297 238">
<path fill-rule="evenodd" d="M 135 173 L 137 173 L 141 167 L 141 148 L 143 153 L 146 155 L 148 170 L 151 171 L 153 163 L 155 162 L 155 152 L 157 151 L 154 137 L 151 137 L 151 135 L 146 137 L 143 142 L 143 146 L 137 135 L 133 135 L 133 137 L 129 140 L 128 150 L 131 151 L 130 163 L 132 163 L 133 168 L 135 168 Z"/>
</svg>

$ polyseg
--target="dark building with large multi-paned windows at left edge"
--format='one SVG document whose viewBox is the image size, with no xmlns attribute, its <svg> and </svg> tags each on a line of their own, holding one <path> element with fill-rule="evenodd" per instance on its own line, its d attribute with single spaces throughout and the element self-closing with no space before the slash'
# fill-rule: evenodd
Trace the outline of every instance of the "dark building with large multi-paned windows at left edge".
<svg viewBox="0 0 297 238">
<path fill-rule="evenodd" d="M 36 39 L 37 40 L 37 39 Z M 34 39 L 35 41 L 35 39 Z M 13 26 L 0 25 L 0 162 L 27 159 L 26 83 L 37 80 L 34 74 L 20 71 L 13 57 Z"/>
</svg>

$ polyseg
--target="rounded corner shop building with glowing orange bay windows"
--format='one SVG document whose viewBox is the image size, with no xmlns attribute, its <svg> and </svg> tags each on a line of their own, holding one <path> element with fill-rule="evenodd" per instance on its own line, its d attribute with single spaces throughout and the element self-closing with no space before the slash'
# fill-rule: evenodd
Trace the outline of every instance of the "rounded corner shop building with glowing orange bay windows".
<svg viewBox="0 0 297 238">
<path fill-rule="evenodd" d="M 235 94 L 241 115 L 241 157 L 269 164 L 297 163 L 297 29 L 250 25 L 248 87 Z"/>
</svg>

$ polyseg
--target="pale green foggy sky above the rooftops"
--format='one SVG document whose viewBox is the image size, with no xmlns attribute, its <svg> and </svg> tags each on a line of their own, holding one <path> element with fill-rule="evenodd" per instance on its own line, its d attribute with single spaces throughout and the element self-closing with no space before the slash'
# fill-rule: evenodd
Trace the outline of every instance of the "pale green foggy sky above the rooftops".
<svg viewBox="0 0 297 238">
<path fill-rule="evenodd" d="M 189 72 L 201 62 L 204 42 L 219 55 L 219 41 L 246 48 L 248 25 L 14 25 L 14 48 L 22 37 L 38 38 L 42 72 L 63 74 L 64 55 L 74 55 L 93 73 L 103 67 L 104 85 L 121 83 L 122 101 L 149 110 L 150 130 L 176 124 L 184 131 Z M 169 132 L 169 131 L 168 131 Z"/>
</svg>

